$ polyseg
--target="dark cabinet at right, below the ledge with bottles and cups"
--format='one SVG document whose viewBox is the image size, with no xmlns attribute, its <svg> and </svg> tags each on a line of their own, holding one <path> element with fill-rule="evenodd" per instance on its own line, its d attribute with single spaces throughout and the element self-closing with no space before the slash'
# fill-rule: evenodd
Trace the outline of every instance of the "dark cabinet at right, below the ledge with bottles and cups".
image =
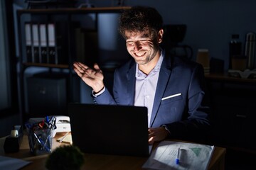
<svg viewBox="0 0 256 170">
<path fill-rule="evenodd" d="M 206 74 L 213 111 L 215 145 L 256 154 L 256 79 Z"/>
</svg>

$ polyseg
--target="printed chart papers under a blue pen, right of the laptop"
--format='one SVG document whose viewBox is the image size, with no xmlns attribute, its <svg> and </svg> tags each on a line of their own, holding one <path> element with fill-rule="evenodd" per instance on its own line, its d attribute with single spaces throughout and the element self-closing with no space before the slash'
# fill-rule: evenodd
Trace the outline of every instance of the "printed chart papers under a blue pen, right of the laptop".
<svg viewBox="0 0 256 170">
<path fill-rule="evenodd" d="M 179 149 L 181 148 L 181 149 Z M 144 169 L 208 169 L 214 146 L 162 141 L 142 166 Z M 178 164 L 175 161 L 179 154 Z"/>
</svg>

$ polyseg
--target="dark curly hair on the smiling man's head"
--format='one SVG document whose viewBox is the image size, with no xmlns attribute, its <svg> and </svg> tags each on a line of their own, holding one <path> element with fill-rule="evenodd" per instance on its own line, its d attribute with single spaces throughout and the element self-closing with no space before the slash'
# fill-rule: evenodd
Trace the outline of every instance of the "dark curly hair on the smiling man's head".
<svg viewBox="0 0 256 170">
<path fill-rule="evenodd" d="M 163 18 L 155 8 L 148 6 L 133 6 L 125 10 L 119 18 L 119 33 L 127 39 L 125 31 L 149 31 L 149 38 L 156 38 L 163 28 Z"/>
</svg>

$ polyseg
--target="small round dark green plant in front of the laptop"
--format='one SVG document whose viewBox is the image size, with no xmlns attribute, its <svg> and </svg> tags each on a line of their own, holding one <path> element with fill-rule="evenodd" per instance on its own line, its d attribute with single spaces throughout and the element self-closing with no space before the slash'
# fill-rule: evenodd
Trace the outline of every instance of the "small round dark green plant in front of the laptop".
<svg viewBox="0 0 256 170">
<path fill-rule="evenodd" d="M 78 170 L 83 164 L 84 154 L 72 145 L 56 148 L 46 159 L 46 168 L 49 170 Z"/>
</svg>

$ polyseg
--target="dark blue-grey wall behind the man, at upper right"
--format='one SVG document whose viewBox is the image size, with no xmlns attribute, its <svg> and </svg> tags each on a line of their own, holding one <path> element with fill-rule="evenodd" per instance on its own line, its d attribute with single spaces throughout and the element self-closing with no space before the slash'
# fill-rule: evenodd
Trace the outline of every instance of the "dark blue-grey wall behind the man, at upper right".
<svg viewBox="0 0 256 170">
<path fill-rule="evenodd" d="M 116 6 L 117 0 L 90 0 L 90 3 L 97 7 Z M 182 44 L 193 48 L 193 60 L 198 48 L 208 48 L 210 57 L 225 61 L 225 70 L 231 35 L 239 34 L 244 46 L 246 33 L 256 32 L 255 0 L 124 0 L 124 6 L 134 5 L 154 6 L 165 24 L 186 24 Z"/>
</svg>

